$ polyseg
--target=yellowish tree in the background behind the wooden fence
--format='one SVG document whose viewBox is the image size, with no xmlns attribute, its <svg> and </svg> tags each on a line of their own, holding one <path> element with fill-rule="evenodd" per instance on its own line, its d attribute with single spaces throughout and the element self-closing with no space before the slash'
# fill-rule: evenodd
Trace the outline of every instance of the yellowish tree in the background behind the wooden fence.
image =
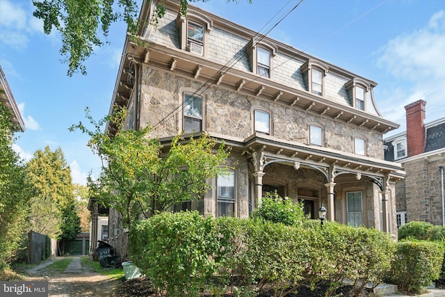
<svg viewBox="0 0 445 297">
<path fill-rule="evenodd" d="M 71 169 L 62 149 L 51 152 L 47 146 L 38 150 L 27 169 L 35 188 L 29 215 L 31 229 L 59 240 L 74 239 L 80 230 L 80 218 L 75 211 Z"/>
</svg>

